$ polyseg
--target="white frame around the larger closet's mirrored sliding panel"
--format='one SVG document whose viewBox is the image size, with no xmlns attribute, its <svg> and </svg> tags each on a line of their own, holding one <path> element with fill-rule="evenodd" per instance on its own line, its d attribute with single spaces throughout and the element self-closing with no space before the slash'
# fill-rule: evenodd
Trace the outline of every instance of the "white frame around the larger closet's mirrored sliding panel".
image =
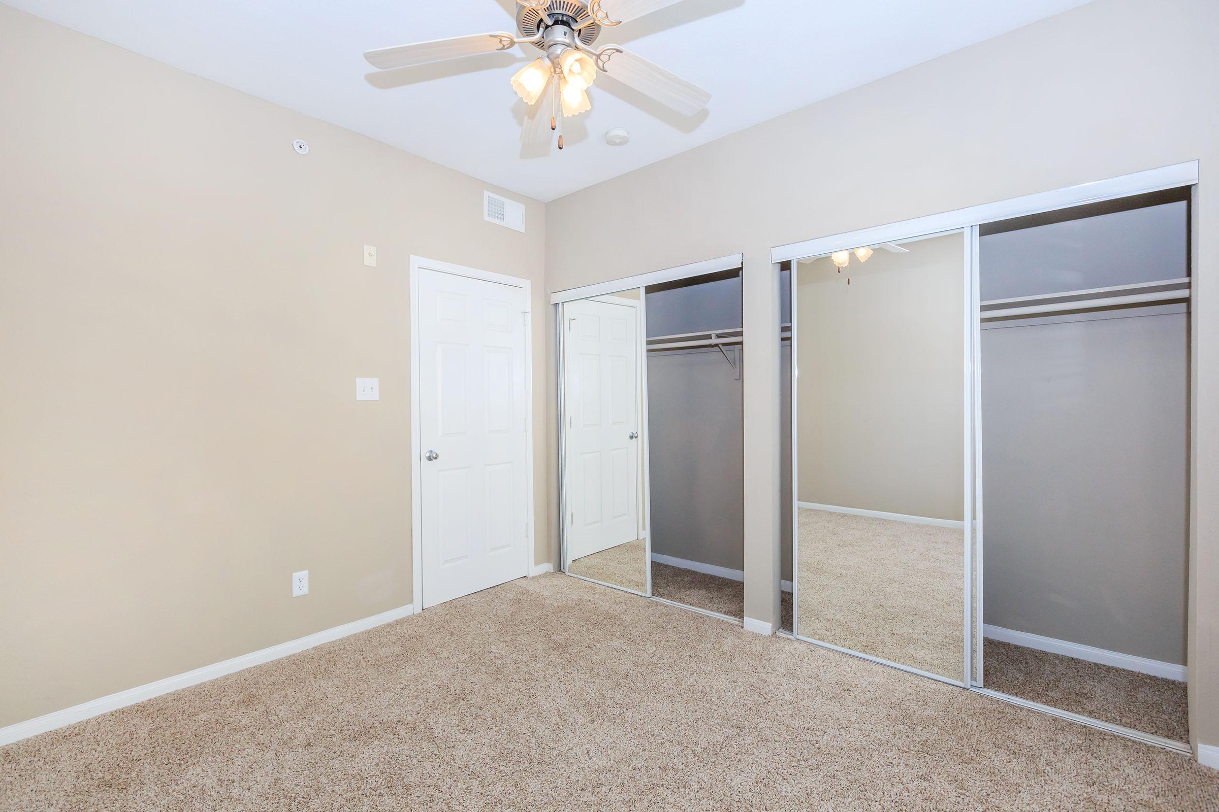
<svg viewBox="0 0 1219 812">
<path fill-rule="evenodd" d="M 818 253 L 795 257 L 790 259 L 784 259 L 783 262 L 791 263 L 791 271 L 789 274 L 789 281 L 791 285 L 790 297 L 791 297 L 791 632 L 792 637 L 803 640 L 806 643 L 812 643 L 813 645 L 819 645 L 825 649 L 831 649 L 834 651 L 841 651 L 842 654 L 850 654 L 851 656 L 859 657 L 862 660 L 868 660 L 870 662 L 879 662 L 880 665 L 890 666 L 900 671 L 907 671 L 920 677 L 929 677 L 939 682 L 948 683 L 950 685 L 957 685 L 959 688 L 968 688 L 970 679 L 970 668 L 973 663 L 973 629 L 972 629 L 972 607 L 973 607 L 973 558 L 972 551 L 974 549 L 973 543 L 973 522 L 970 517 L 973 515 L 973 499 L 974 499 L 974 483 L 973 483 L 973 459 L 974 459 L 974 342 L 973 342 L 973 314 L 975 312 L 975 304 L 978 302 L 978 293 L 974 282 L 974 242 L 973 233 L 976 231 L 976 226 L 958 226 L 952 229 L 945 229 L 942 231 L 930 231 L 930 233 L 908 233 L 907 229 L 918 223 L 918 220 L 911 220 L 908 223 L 896 223 L 891 226 L 883 226 L 881 229 L 870 229 L 875 239 L 867 242 L 853 242 L 857 239 L 856 235 L 859 233 L 848 233 L 835 235 L 831 237 L 824 237 L 822 240 L 813 240 L 807 243 L 801 245 L 816 245 L 822 250 Z M 946 674 L 937 674 L 930 671 L 923 671 L 922 668 L 915 668 L 902 662 L 896 662 L 894 660 L 886 660 L 884 657 L 878 657 L 864 651 L 857 651 L 855 649 L 847 649 L 841 645 L 835 645 L 833 643 L 826 643 L 825 640 L 818 640 L 812 637 L 807 637 L 800 633 L 800 437 L 797 427 L 800 425 L 800 394 L 797 386 L 798 381 L 798 307 L 797 307 L 797 268 L 800 261 L 813 259 L 819 257 L 826 257 L 835 251 L 853 250 L 862 245 L 881 245 L 885 242 L 897 242 L 897 243 L 909 243 L 917 242 L 919 240 L 929 240 L 933 237 L 950 236 L 952 234 L 962 235 L 962 243 L 964 246 L 961 257 L 961 274 L 964 282 L 963 296 L 961 297 L 961 330 L 964 341 L 962 342 L 962 382 L 961 393 L 963 398 L 963 432 L 964 432 L 964 476 L 962 477 L 962 491 L 963 491 L 963 511 L 962 511 L 962 528 L 963 528 L 963 554 L 964 554 L 964 566 L 962 567 L 962 589 L 964 590 L 964 612 L 962 615 L 962 638 L 964 642 L 964 657 L 962 661 L 961 678 L 954 679 Z M 825 248 L 824 246 L 831 246 Z M 772 256 L 772 261 L 774 257 Z M 778 263 L 775 265 L 778 268 Z"/>
</svg>

